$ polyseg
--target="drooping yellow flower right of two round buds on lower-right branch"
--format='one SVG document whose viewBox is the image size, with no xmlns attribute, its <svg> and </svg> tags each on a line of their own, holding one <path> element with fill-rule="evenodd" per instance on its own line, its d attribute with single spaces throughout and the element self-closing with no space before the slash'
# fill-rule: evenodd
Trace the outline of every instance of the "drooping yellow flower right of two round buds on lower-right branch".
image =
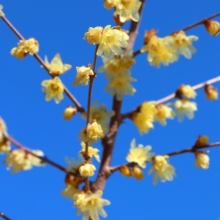
<svg viewBox="0 0 220 220">
<path fill-rule="evenodd" d="M 158 178 L 161 182 L 172 181 L 175 176 L 175 168 L 167 162 L 168 156 L 156 156 L 152 163 L 149 174 L 155 172 L 153 183 L 157 184 Z"/>
</svg>

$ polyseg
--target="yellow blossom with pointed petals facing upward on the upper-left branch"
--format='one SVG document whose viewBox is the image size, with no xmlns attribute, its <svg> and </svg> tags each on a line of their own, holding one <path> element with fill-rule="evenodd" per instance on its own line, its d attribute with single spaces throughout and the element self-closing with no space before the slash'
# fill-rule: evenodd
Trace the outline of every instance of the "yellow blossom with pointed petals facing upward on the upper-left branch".
<svg viewBox="0 0 220 220">
<path fill-rule="evenodd" d="M 70 64 L 63 64 L 59 53 L 54 56 L 51 63 L 49 63 L 47 56 L 45 56 L 45 65 L 51 75 L 64 74 L 72 67 Z"/>
</svg>

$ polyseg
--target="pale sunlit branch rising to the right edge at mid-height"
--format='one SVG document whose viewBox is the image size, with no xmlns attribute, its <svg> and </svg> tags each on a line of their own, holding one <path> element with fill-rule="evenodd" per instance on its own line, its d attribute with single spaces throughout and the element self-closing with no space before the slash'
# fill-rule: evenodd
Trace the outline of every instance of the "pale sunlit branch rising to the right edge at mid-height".
<svg viewBox="0 0 220 220">
<path fill-rule="evenodd" d="M 220 76 L 217 76 L 217 77 L 215 77 L 213 79 L 210 79 L 210 80 L 208 80 L 206 82 L 202 82 L 202 83 L 199 83 L 197 85 L 194 85 L 194 86 L 192 86 L 192 89 L 193 90 L 201 89 L 201 88 L 203 88 L 203 87 L 205 87 L 207 85 L 211 85 L 211 84 L 214 84 L 214 83 L 217 83 L 217 82 L 220 82 Z M 168 95 L 168 96 L 166 96 L 166 97 L 164 97 L 162 99 L 157 100 L 156 103 L 157 103 L 157 105 L 159 105 L 159 104 L 168 102 L 168 101 L 170 101 L 170 100 L 172 100 L 172 99 L 174 99 L 176 97 L 177 97 L 177 92 L 174 92 L 174 93 L 172 93 L 172 94 L 170 94 L 170 95 Z M 131 118 L 134 113 L 138 112 L 138 109 L 140 108 L 140 106 L 138 106 L 133 111 L 130 111 L 128 113 L 123 114 L 122 115 L 122 119 Z"/>
</svg>

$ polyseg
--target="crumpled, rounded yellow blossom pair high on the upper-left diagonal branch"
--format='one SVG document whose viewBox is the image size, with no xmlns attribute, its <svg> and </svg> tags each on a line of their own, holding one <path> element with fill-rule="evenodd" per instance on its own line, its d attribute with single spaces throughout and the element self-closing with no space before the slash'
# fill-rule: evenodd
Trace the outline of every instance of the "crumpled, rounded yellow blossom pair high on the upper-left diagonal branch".
<svg viewBox="0 0 220 220">
<path fill-rule="evenodd" d="M 20 40 L 18 47 L 14 47 L 11 50 L 11 55 L 17 57 L 18 59 L 24 58 L 28 53 L 34 55 L 39 51 L 38 41 L 34 38 L 29 38 L 28 40 Z"/>
</svg>

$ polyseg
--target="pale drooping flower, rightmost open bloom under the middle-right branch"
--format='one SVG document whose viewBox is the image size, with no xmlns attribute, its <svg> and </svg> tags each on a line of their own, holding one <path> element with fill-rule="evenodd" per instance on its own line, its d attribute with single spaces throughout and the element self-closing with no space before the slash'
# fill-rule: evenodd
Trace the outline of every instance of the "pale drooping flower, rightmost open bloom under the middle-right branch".
<svg viewBox="0 0 220 220">
<path fill-rule="evenodd" d="M 191 102 L 188 99 L 178 99 L 174 102 L 175 113 L 179 122 L 183 121 L 184 115 L 189 119 L 194 117 L 194 111 L 197 111 L 196 102 Z"/>
</svg>

